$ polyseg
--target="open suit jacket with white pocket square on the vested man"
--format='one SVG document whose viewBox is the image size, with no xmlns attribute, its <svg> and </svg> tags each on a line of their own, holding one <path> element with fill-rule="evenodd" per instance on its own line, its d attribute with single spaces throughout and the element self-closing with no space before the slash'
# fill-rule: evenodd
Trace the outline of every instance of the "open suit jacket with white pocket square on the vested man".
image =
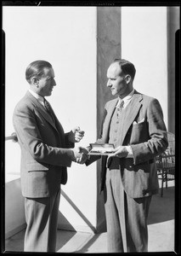
<svg viewBox="0 0 181 256">
<path fill-rule="evenodd" d="M 97 143 L 108 143 L 111 117 L 117 99 L 105 104 L 104 122 Z M 133 158 L 120 158 L 120 174 L 124 189 L 130 197 L 139 198 L 158 192 L 159 184 L 155 157 L 167 148 L 167 130 L 163 121 L 160 103 L 153 97 L 140 94 L 136 90 L 132 101 L 122 113 L 118 129 L 119 145 L 129 145 Z M 101 190 L 105 186 L 107 157 L 102 156 Z M 93 156 L 86 165 L 98 160 Z"/>
</svg>

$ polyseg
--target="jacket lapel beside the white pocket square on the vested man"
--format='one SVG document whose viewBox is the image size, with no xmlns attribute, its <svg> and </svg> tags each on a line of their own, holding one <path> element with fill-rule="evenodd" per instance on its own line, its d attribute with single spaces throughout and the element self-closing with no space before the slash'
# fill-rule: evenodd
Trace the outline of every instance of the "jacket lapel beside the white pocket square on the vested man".
<svg viewBox="0 0 181 256">
<path fill-rule="evenodd" d="M 122 131 L 119 144 L 122 145 L 124 138 L 127 134 L 129 127 L 133 124 L 133 120 L 136 118 L 139 113 L 139 109 L 142 106 L 142 95 L 137 91 L 133 94 L 132 101 L 127 105 L 125 111 L 122 115 L 122 122 L 120 124 L 119 130 Z"/>
</svg>

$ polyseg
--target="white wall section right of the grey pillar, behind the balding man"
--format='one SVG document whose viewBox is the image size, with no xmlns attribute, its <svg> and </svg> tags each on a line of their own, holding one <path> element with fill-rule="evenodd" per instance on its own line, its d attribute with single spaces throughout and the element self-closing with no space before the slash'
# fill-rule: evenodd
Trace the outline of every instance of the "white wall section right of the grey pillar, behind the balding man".
<svg viewBox="0 0 181 256">
<path fill-rule="evenodd" d="M 156 97 L 167 125 L 167 7 L 122 7 L 122 58 L 137 73 L 134 88 Z"/>
</svg>

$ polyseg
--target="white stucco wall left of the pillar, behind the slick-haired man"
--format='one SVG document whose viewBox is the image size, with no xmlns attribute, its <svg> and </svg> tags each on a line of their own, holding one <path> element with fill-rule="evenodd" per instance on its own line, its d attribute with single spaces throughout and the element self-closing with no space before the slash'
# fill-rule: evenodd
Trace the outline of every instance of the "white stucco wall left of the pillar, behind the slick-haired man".
<svg viewBox="0 0 181 256">
<path fill-rule="evenodd" d="M 96 7 L 3 7 L 3 30 L 6 33 L 6 136 L 14 131 L 15 104 L 28 89 L 25 68 L 31 61 L 42 59 L 54 67 L 57 86 L 48 101 L 65 131 L 80 125 L 86 134 L 79 144 L 93 143 L 96 139 Z M 14 154 L 14 145 L 11 147 L 9 143 L 12 142 L 6 143 L 5 157 L 9 164 L 5 171 L 20 172 L 20 151 Z M 95 164 L 85 167 L 73 163 L 68 168 L 68 177 L 62 189 L 81 214 L 64 197 L 59 211 L 74 229 L 89 230 L 89 225 L 96 224 Z M 59 218 L 60 228 L 64 225 L 62 221 Z"/>
</svg>

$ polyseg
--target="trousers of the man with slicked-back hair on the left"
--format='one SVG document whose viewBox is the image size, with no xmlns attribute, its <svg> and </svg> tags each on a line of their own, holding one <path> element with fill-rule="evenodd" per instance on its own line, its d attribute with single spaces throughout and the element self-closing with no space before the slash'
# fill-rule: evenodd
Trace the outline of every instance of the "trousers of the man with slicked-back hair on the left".
<svg viewBox="0 0 181 256">
<path fill-rule="evenodd" d="M 60 189 L 50 197 L 25 197 L 25 252 L 55 252 Z"/>
</svg>

